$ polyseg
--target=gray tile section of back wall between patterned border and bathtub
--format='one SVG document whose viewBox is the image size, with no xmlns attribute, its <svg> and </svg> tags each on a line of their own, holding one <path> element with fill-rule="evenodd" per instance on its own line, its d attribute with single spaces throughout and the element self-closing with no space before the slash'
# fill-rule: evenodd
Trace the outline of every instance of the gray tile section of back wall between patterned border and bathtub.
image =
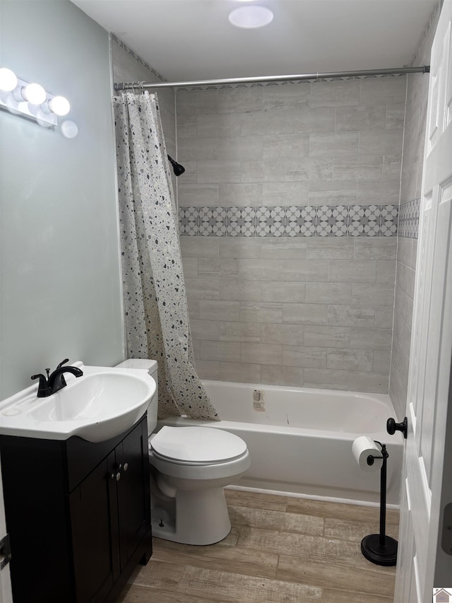
<svg viewBox="0 0 452 603">
<path fill-rule="evenodd" d="M 181 238 L 203 378 L 388 391 L 396 238 Z"/>
</svg>

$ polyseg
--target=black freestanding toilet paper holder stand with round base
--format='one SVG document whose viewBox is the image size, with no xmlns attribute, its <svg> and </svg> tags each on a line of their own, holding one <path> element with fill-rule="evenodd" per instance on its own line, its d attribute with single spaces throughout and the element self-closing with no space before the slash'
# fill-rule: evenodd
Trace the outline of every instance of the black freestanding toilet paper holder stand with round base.
<svg viewBox="0 0 452 603">
<path fill-rule="evenodd" d="M 361 541 L 361 552 L 368 561 L 377 566 L 395 566 L 397 561 L 397 540 L 386 536 L 386 460 L 388 451 L 386 444 L 374 440 L 381 446 L 381 457 L 369 455 L 367 464 L 373 465 L 375 459 L 383 459 L 380 474 L 380 533 L 369 534 Z"/>
</svg>

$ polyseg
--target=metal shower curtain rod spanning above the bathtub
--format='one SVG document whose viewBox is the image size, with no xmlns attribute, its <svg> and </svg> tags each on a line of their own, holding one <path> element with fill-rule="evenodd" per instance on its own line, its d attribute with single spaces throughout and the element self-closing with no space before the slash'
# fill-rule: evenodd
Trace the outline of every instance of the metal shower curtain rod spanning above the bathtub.
<svg viewBox="0 0 452 603">
<path fill-rule="evenodd" d="M 224 80 L 200 80 L 179 82 L 134 82 L 115 83 L 114 90 L 148 90 L 149 88 L 192 88 L 194 86 L 227 86 L 229 84 L 245 84 L 278 81 L 303 81 L 329 78 L 355 78 L 362 76 L 390 76 L 402 74 L 428 74 L 429 65 L 419 67 L 400 67 L 399 69 L 370 69 L 368 71 L 332 71 L 325 74 L 298 74 L 286 76 L 257 76 L 253 78 L 229 78 Z"/>
</svg>

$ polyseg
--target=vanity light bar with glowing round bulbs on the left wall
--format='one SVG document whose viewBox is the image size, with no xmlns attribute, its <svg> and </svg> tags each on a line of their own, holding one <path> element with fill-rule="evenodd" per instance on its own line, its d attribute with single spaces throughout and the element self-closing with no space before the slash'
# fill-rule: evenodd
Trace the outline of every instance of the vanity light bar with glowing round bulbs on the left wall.
<svg viewBox="0 0 452 603">
<path fill-rule="evenodd" d="M 58 115 L 71 109 L 64 96 L 49 94 L 38 83 L 21 80 L 11 69 L 0 69 L 0 109 L 34 119 L 44 127 L 57 126 Z"/>
</svg>

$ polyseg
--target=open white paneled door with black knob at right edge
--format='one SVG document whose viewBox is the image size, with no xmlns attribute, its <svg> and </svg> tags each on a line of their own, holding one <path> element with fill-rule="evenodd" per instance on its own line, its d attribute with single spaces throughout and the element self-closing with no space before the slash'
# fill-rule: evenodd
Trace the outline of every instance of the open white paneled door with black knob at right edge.
<svg viewBox="0 0 452 603">
<path fill-rule="evenodd" d="M 452 502 L 451 21 L 446 0 L 430 69 L 395 603 L 429 603 L 434 586 L 452 586 L 452 556 L 441 549 Z"/>
</svg>

